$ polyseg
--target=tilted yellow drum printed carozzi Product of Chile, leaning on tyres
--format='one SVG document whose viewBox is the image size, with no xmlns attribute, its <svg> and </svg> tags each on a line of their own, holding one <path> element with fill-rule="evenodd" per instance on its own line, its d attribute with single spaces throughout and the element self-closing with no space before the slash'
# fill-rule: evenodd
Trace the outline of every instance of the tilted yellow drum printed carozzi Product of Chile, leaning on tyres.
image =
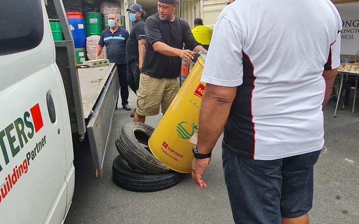
<svg viewBox="0 0 359 224">
<path fill-rule="evenodd" d="M 205 87 L 205 83 L 200 82 L 203 65 L 203 58 L 198 57 L 149 139 L 152 154 L 180 173 L 191 172 L 192 148 L 197 142 L 199 108 Z"/>
</svg>

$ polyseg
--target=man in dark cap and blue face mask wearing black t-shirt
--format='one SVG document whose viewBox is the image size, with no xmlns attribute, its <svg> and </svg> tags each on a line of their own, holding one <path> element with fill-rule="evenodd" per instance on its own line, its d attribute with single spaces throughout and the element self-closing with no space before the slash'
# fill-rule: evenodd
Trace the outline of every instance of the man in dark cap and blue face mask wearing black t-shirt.
<svg viewBox="0 0 359 224">
<path fill-rule="evenodd" d="M 132 91 L 137 94 L 136 92 L 140 82 L 140 71 L 142 70 L 146 48 L 144 21 L 146 15 L 140 4 L 132 5 L 127 11 L 130 11 L 130 21 L 134 23 L 131 29 L 130 38 L 126 44 L 127 83 Z M 135 116 L 135 111 L 131 113 L 131 117 Z"/>
</svg>

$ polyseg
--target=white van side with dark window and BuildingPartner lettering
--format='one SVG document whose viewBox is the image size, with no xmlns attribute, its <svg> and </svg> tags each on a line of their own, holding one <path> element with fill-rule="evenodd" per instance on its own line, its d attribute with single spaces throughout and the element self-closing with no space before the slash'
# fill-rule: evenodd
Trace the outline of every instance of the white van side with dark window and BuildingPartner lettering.
<svg viewBox="0 0 359 224">
<path fill-rule="evenodd" d="M 66 105 L 51 69 L 54 57 L 42 0 L 1 1 L 1 223 L 62 221 L 65 215 L 68 117 L 61 112 Z"/>
</svg>

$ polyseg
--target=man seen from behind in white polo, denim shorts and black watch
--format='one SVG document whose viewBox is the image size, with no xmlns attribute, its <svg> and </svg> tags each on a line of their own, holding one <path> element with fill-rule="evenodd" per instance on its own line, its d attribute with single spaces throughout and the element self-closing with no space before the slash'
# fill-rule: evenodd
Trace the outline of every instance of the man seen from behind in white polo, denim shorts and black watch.
<svg viewBox="0 0 359 224">
<path fill-rule="evenodd" d="M 309 224 L 341 24 L 330 0 L 236 0 L 219 15 L 201 79 L 192 178 L 207 187 L 202 174 L 224 128 L 235 223 Z"/>
</svg>

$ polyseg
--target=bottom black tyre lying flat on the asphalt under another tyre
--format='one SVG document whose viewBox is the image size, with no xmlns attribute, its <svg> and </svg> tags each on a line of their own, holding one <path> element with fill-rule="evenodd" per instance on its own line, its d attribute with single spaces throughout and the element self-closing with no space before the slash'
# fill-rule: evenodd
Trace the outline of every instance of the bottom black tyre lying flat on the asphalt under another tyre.
<svg viewBox="0 0 359 224">
<path fill-rule="evenodd" d="M 136 172 L 120 155 L 113 161 L 112 175 L 118 186 L 135 192 L 165 190 L 178 184 L 184 177 L 184 174 L 175 171 L 152 175 Z"/>
</svg>

